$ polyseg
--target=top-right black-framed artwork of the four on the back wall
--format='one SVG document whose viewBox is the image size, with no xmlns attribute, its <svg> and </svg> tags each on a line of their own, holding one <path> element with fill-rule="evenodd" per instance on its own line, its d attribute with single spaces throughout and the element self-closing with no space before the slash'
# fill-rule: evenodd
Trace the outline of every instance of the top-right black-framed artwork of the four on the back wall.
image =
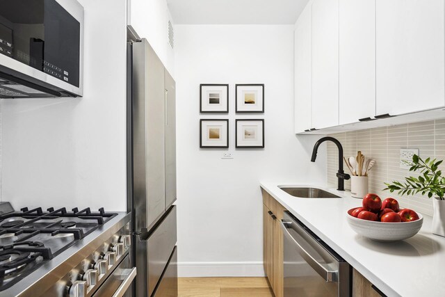
<svg viewBox="0 0 445 297">
<path fill-rule="evenodd" d="M 235 85 L 237 113 L 264 113 L 264 84 Z"/>
</svg>

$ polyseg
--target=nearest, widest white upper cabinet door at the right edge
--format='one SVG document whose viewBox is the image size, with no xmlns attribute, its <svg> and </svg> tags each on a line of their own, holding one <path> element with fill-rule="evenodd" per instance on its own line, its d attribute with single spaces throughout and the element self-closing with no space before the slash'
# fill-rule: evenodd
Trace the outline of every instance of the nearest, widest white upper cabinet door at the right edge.
<svg viewBox="0 0 445 297">
<path fill-rule="evenodd" d="M 444 1 L 376 0 L 376 113 L 444 106 Z"/>
</svg>

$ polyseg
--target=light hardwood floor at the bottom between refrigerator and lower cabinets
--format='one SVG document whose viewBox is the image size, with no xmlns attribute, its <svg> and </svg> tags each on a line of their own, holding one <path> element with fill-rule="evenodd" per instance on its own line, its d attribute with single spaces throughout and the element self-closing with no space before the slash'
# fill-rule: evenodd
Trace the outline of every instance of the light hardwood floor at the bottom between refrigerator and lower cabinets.
<svg viewBox="0 0 445 297">
<path fill-rule="evenodd" d="M 274 297 L 266 278 L 178 278 L 178 297 Z"/>
</svg>

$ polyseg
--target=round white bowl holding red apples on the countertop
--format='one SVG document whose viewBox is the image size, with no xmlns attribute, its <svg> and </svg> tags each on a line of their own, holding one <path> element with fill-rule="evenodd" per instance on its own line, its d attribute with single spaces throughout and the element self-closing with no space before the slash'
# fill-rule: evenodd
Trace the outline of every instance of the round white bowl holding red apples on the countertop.
<svg viewBox="0 0 445 297">
<path fill-rule="evenodd" d="M 356 209 L 348 210 L 348 223 L 357 234 L 365 236 L 375 241 L 399 241 L 408 239 L 419 232 L 423 224 L 423 216 L 419 213 L 419 220 L 401 223 L 385 223 L 373 220 L 362 220 L 351 216 L 351 212 Z"/>
</svg>

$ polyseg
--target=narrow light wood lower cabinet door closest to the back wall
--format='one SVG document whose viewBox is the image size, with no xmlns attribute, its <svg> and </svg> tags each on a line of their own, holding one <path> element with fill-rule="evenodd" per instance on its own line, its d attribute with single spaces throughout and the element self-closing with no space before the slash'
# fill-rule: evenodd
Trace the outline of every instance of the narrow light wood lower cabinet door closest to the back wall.
<svg viewBox="0 0 445 297">
<path fill-rule="evenodd" d="M 273 218 L 270 209 L 263 204 L 263 265 L 264 273 L 273 285 Z"/>
</svg>

